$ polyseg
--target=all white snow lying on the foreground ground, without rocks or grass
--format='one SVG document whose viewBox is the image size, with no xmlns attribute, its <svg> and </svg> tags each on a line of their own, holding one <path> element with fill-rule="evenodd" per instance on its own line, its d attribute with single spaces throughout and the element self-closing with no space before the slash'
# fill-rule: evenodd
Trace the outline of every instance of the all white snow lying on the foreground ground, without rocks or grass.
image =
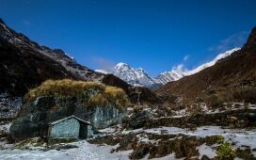
<svg viewBox="0 0 256 160">
<path fill-rule="evenodd" d="M 225 141 L 229 141 L 235 144 L 235 147 L 245 147 L 248 146 L 250 149 L 256 148 L 256 129 L 253 130 L 245 130 L 245 129 L 224 129 L 218 126 L 202 126 L 197 128 L 196 130 L 182 129 L 177 127 L 159 127 L 152 129 L 136 129 L 131 131 L 120 131 L 120 127 L 110 127 L 104 130 L 101 130 L 105 135 L 114 135 L 114 134 L 129 134 L 131 132 L 139 134 L 143 134 L 143 132 L 148 134 L 168 134 L 168 135 L 185 135 L 185 136 L 223 136 Z M 118 132 L 118 133 L 117 133 Z M 147 141 L 147 138 L 140 138 L 141 141 Z M 55 159 L 55 160 L 126 160 L 129 159 L 129 153 L 133 151 L 125 151 L 125 152 L 113 152 L 111 151 L 115 149 L 117 146 L 108 146 L 108 145 L 95 145 L 89 144 L 86 140 L 82 140 L 79 142 L 71 143 L 72 145 L 78 146 L 78 148 L 70 149 L 70 150 L 50 150 L 50 151 L 41 151 L 34 149 L 34 151 L 29 150 L 0 150 L 0 159 L 1 160 L 9 160 L 9 159 L 31 159 L 31 160 L 40 160 L 40 159 Z M 118 144 L 119 145 L 119 144 Z M 40 148 L 41 149 L 41 148 Z M 200 156 L 207 155 L 212 158 L 216 156 L 216 152 L 213 150 L 213 146 L 207 146 L 205 144 L 197 147 L 200 152 Z M 256 155 L 256 152 L 253 152 Z M 165 159 L 175 159 L 174 154 L 169 154 L 168 156 L 158 158 L 159 160 Z M 147 159 L 147 156 L 144 158 Z"/>
</svg>

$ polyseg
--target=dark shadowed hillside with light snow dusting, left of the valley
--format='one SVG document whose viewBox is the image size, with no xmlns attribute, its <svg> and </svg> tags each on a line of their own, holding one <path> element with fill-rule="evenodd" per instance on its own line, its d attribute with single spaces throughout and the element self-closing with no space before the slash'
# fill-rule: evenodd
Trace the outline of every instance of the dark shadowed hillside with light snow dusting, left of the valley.
<svg viewBox="0 0 256 160">
<path fill-rule="evenodd" d="M 10 29 L 0 20 L 1 91 L 23 95 L 46 79 L 97 80 L 103 74 L 75 62 L 59 49 L 50 49 Z"/>
</svg>

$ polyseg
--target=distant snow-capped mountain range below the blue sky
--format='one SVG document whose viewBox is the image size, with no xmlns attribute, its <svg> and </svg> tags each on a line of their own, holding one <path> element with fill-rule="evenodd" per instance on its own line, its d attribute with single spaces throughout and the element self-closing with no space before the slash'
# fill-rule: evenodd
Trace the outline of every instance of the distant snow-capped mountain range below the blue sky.
<svg viewBox="0 0 256 160">
<path fill-rule="evenodd" d="M 130 65 L 120 62 L 118 63 L 112 71 L 96 70 L 96 72 L 102 72 L 104 74 L 114 74 L 123 81 L 127 82 L 132 86 L 140 86 L 146 88 L 156 88 L 166 85 L 168 82 L 177 81 L 184 76 L 192 75 L 194 73 L 200 72 L 208 67 L 214 66 L 216 62 L 227 56 L 231 56 L 233 52 L 239 50 L 240 48 L 234 48 L 223 54 L 219 54 L 212 61 L 203 63 L 194 70 L 186 71 L 183 66 L 178 66 L 169 72 L 162 72 L 156 77 L 152 77 L 150 74 L 145 72 L 142 68 L 135 69 Z"/>
</svg>

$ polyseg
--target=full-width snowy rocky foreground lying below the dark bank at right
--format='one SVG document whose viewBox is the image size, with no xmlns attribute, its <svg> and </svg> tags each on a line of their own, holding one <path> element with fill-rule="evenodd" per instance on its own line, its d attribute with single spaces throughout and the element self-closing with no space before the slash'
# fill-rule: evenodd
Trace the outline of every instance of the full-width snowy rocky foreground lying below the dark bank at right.
<svg viewBox="0 0 256 160">
<path fill-rule="evenodd" d="M 8 133 L 10 123 L 1 125 Z M 225 157 L 229 155 L 229 157 Z M 48 146 L 39 137 L 8 144 L 2 137 L 0 159 L 255 159 L 256 130 L 220 126 L 157 127 L 128 130 L 121 125 L 94 138 Z"/>
</svg>

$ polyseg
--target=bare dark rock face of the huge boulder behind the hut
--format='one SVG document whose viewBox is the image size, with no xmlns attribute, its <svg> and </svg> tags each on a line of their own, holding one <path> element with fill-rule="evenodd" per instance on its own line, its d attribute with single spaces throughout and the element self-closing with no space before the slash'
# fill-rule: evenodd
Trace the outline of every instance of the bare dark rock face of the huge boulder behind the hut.
<svg viewBox="0 0 256 160">
<path fill-rule="evenodd" d="M 83 103 L 88 94 L 74 97 L 45 96 L 24 104 L 22 111 L 10 127 L 11 137 L 15 141 L 34 136 L 46 136 L 48 123 L 69 116 L 88 120 L 96 128 L 104 128 L 120 123 L 125 109 L 114 105 L 89 106 Z"/>
</svg>

